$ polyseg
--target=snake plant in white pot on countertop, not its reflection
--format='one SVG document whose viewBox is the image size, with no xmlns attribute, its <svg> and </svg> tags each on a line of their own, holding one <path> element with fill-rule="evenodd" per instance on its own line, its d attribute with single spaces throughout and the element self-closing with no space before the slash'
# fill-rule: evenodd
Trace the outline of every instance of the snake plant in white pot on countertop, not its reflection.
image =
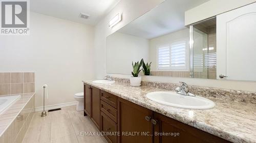
<svg viewBox="0 0 256 143">
<path fill-rule="evenodd" d="M 142 70 L 142 69 L 140 69 L 140 67 L 142 66 L 142 63 L 143 63 L 143 59 L 141 59 L 140 63 L 139 63 L 139 61 L 135 62 L 135 64 L 133 64 L 133 62 L 132 62 L 132 66 L 133 66 L 132 75 L 133 76 L 130 77 L 130 83 L 134 87 L 138 87 L 141 85 L 140 84 L 141 76 L 139 76 L 139 73 Z"/>
</svg>

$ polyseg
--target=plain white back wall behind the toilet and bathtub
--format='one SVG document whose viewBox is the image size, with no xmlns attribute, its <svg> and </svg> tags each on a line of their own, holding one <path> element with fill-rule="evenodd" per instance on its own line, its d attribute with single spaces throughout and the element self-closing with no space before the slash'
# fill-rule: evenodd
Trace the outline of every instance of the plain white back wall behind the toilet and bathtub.
<svg viewBox="0 0 256 143">
<path fill-rule="evenodd" d="M 94 28 L 30 13 L 29 36 L 0 36 L 0 72 L 35 72 L 35 105 L 42 106 L 42 85 L 49 85 L 46 105 L 75 101 L 83 79 L 93 79 Z"/>
</svg>

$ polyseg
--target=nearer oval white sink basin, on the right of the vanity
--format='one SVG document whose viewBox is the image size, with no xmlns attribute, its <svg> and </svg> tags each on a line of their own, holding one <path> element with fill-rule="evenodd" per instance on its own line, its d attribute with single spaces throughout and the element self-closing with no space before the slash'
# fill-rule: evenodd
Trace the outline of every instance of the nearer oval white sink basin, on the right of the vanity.
<svg viewBox="0 0 256 143">
<path fill-rule="evenodd" d="M 215 106 L 214 102 L 204 97 L 185 96 L 176 92 L 152 92 L 146 97 L 161 104 L 187 109 L 209 109 Z"/>
</svg>

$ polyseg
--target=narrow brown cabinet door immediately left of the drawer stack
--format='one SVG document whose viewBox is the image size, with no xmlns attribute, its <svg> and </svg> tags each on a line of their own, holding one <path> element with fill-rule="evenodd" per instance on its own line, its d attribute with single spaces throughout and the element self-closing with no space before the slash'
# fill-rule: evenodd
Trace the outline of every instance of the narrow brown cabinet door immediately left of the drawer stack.
<svg viewBox="0 0 256 143">
<path fill-rule="evenodd" d="M 100 125 L 100 90 L 91 86 L 91 119 L 99 129 Z"/>
</svg>

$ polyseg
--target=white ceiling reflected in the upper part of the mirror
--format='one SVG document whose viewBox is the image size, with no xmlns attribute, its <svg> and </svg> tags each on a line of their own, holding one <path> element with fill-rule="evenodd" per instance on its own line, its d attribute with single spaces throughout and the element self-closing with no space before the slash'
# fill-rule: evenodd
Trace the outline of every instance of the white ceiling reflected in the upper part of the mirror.
<svg viewBox="0 0 256 143">
<path fill-rule="evenodd" d="M 185 11 L 207 1 L 209 0 L 166 0 L 118 32 L 152 39 L 179 31 L 185 28 Z"/>
</svg>

